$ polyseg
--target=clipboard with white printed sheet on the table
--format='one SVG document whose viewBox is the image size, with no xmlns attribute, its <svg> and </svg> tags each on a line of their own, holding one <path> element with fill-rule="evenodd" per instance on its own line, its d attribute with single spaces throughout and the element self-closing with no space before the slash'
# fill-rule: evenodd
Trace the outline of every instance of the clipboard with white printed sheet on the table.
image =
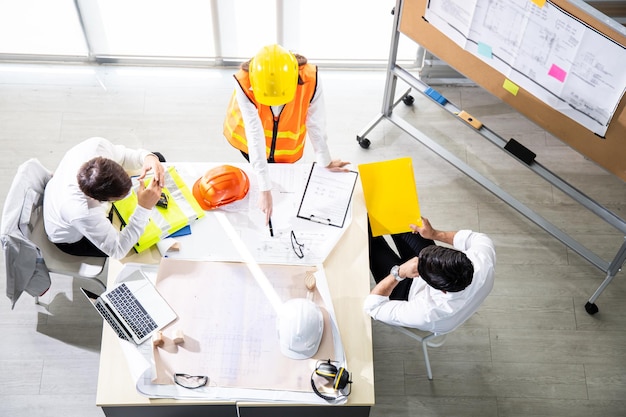
<svg viewBox="0 0 626 417">
<path fill-rule="evenodd" d="M 297 216 L 342 228 L 359 173 L 333 172 L 313 163 Z"/>
</svg>

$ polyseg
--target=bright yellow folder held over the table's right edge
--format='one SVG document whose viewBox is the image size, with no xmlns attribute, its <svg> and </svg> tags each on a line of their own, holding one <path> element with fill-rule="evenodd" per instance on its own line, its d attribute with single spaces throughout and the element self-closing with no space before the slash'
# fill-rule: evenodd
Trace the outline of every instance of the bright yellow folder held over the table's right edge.
<svg viewBox="0 0 626 417">
<path fill-rule="evenodd" d="M 360 164 L 359 174 L 373 236 L 422 225 L 411 158 Z"/>
</svg>

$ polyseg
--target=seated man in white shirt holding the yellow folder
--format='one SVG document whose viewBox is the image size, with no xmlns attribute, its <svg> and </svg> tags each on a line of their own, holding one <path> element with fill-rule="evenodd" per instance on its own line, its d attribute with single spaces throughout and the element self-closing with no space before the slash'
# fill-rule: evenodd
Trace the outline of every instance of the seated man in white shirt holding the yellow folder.
<svg viewBox="0 0 626 417">
<path fill-rule="evenodd" d="M 364 309 L 387 324 L 447 333 L 474 314 L 491 292 L 496 253 L 483 233 L 440 231 L 422 220 L 421 227 L 410 225 L 413 232 L 392 235 L 400 256 L 370 230 L 370 270 L 376 286 Z"/>
</svg>

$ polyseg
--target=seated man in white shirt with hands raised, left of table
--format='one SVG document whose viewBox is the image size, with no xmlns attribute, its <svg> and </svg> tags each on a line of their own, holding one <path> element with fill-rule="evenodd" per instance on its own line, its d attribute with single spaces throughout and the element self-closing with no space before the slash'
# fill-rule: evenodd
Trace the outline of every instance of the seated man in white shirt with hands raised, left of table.
<svg viewBox="0 0 626 417">
<path fill-rule="evenodd" d="M 161 157 L 162 158 L 162 157 Z M 132 188 L 129 171 L 138 171 L 138 205 L 121 231 L 111 224 L 110 202 Z M 148 186 L 143 179 L 151 172 Z M 44 194 L 44 226 L 51 242 L 78 256 L 123 258 L 143 233 L 165 181 L 160 157 L 143 149 L 87 139 L 63 157 Z"/>
</svg>

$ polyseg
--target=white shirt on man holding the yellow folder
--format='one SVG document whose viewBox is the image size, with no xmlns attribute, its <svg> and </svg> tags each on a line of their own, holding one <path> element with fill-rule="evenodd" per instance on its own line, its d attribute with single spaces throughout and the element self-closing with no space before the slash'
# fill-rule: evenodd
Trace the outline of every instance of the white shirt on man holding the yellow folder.
<svg viewBox="0 0 626 417">
<path fill-rule="evenodd" d="M 463 324 L 493 288 L 496 252 L 487 235 L 471 230 L 459 230 L 453 245 L 464 252 L 474 266 L 472 283 L 467 288 L 444 293 L 417 277 L 413 278 L 408 301 L 370 294 L 365 299 L 364 310 L 388 324 L 435 333 L 447 333 Z"/>
</svg>

